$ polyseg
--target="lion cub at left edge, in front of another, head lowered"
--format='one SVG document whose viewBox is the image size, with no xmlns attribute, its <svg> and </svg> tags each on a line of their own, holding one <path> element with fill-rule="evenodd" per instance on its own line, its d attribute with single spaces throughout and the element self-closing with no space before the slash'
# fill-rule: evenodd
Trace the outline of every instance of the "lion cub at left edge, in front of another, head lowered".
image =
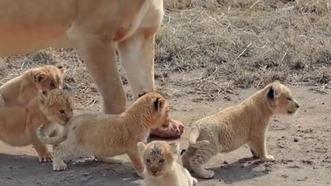
<svg viewBox="0 0 331 186">
<path fill-rule="evenodd" d="M 51 131 L 71 117 L 72 100 L 66 90 L 40 91 L 26 106 L 0 107 L 0 140 L 16 147 L 32 144 L 40 162 L 51 161 L 52 154 L 38 140 L 37 129 L 45 125 Z"/>
</svg>

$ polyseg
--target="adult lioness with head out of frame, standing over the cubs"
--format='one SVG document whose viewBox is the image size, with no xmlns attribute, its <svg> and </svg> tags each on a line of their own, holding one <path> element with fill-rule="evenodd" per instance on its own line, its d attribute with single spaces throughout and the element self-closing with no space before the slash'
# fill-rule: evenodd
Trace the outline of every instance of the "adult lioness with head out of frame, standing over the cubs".
<svg viewBox="0 0 331 186">
<path fill-rule="evenodd" d="M 126 110 L 116 50 L 133 99 L 154 91 L 154 36 L 163 19 L 162 0 L 0 0 L 0 56 L 41 48 L 77 48 L 103 97 L 108 114 Z M 178 138 L 179 121 L 152 131 Z"/>
</svg>

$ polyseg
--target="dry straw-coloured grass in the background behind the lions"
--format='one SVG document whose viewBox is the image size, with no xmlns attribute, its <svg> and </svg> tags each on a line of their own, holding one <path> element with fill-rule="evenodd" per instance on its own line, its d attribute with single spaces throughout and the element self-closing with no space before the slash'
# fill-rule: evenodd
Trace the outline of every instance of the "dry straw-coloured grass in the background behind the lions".
<svg viewBox="0 0 331 186">
<path fill-rule="evenodd" d="M 165 76 L 163 85 L 226 96 L 234 87 L 260 87 L 274 80 L 292 85 L 331 81 L 328 0 L 169 0 L 156 42 L 157 76 L 197 74 L 180 82 Z M 2 60 L 3 81 L 36 64 L 63 63 L 69 69 L 66 82 L 80 92 L 82 103 L 97 100 L 75 50 L 42 50 Z"/>
</svg>

